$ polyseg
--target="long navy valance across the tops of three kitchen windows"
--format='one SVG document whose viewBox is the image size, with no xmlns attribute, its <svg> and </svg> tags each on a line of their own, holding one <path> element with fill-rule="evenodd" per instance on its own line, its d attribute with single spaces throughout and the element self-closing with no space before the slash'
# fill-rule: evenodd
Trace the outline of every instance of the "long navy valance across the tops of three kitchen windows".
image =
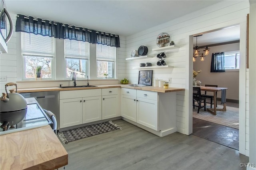
<svg viewBox="0 0 256 170">
<path fill-rule="evenodd" d="M 77 40 L 89 43 L 98 43 L 120 47 L 119 36 L 88 30 L 87 28 L 77 28 L 58 22 L 35 19 L 18 14 L 16 20 L 16 32 L 34 33 L 42 36 Z"/>
</svg>

